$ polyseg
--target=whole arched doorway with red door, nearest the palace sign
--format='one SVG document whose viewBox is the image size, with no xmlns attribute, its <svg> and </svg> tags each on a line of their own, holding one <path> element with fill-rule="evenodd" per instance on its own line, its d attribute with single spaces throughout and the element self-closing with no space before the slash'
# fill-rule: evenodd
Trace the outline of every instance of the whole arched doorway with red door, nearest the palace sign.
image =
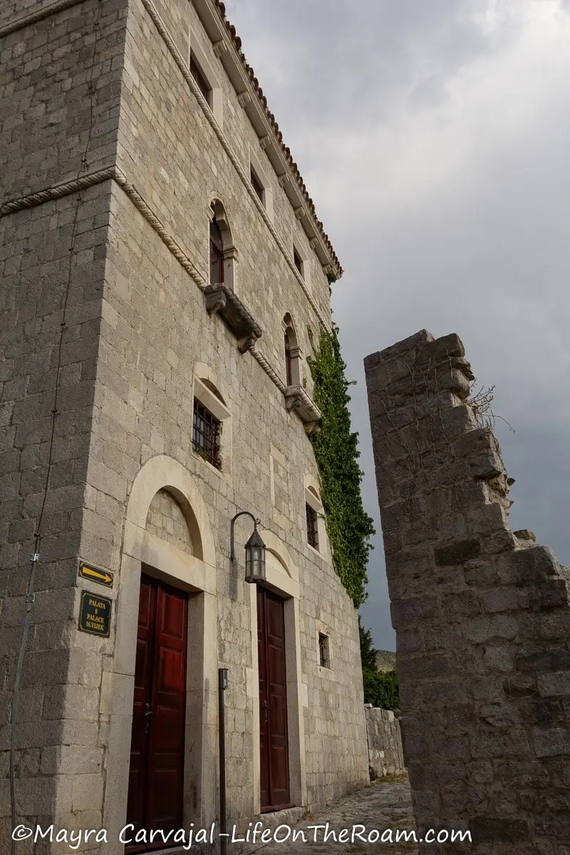
<svg viewBox="0 0 570 855">
<path fill-rule="evenodd" d="M 167 833 L 214 821 L 216 734 L 207 722 L 217 708 L 216 633 L 214 539 L 203 499 L 184 467 L 154 457 L 127 506 L 109 675 L 109 696 L 122 699 L 109 711 L 104 817 L 117 838 L 127 824 Z"/>
</svg>

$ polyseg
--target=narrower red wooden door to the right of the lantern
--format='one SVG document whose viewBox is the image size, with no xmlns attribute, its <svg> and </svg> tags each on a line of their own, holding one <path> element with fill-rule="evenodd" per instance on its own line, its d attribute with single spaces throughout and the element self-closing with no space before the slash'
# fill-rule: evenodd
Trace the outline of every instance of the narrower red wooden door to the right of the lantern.
<svg viewBox="0 0 570 855">
<path fill-rule="evenodd" d="M 283 600 L 257 588 L 261 811 L 290 805 Z"/>
</svg>

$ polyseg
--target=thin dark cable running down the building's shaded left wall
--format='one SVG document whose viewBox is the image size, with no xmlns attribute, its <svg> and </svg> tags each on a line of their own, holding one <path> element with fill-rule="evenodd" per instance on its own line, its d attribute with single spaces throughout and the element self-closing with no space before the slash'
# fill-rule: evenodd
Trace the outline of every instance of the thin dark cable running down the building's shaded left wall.
<svg viewBox="0 0 570 855">
<path fill-rule="evenodd" d="M 91 69 L 89 74 L 89 82 L 87 84 L 87 91 L 89 92 L 90 97 L 90 117 L 89 117 L 89 128 L 87 132 L 87 140 L 85 143 L 85 149 L 83 150 L 83 154 L 81 156 L 79 162 L 79 168 L 77 171 L 77 179 L 79 180 L 81 173 L 86 172 L 89 168 L 89 163 L 87 162 L 87 156 L 89 154 L 89 150 L 91 148 L 91 135 L 93 132 L 93 109 L 95 106 L 95 85 L 93 84 L 93 76 L 95 70 L 95 61 L 97 58 L 97 48 L 98 48 L 98 36 L 99 36 L 99 23 L 101 19 L 101 10 L 103 6 L 103 0 L 97 0 L 97 15 L 95 21 L 93 21 L 93 31 L 95 34 L 95 38 L 93 40 L 93 53 L 91 56 Z M 86 35 L 87 33 L 85 33 Z M 42 524 L 44 522 L 44 512 L 45 505 L 48 497 L 48 492 L 50 489 L 50 475 L 53 463 L 53 449 L 54 449 L 54 441 L 56 437 L 56 420 L 58 416 L 57 410 L 57 398 L 59 393 L 60 386 L 60 372 L 62 369 L 62 347 L 63 347 L 63 336 L 65 334 L 67 327 L 66 324 L 66 316 L 68 310 L 68 299 L 69 292 L 71 290 L 71 280 L 73 274 L 73 256 L 75 255 L 75 239 L 77 234 L 77 222 L 79 219 L 79 207 L 83 201 L 83 198 L 79 195 L 77 197 L 77 203 L 75 205 L 75 213 L 73 215 L 73 227 L 71 233 L 71 241 L 69 246 L 69 266 L 68 266 L 68 281 L 66 284 L 65 296 L 63 299 L 63 307 L 62 307 L 62 322 L 60 324 L 60 334 L 59 334 L 59 342 L 57 348 L 57 363 L 56 363 L 56 388 L 54 392 L 54 404 L 51 410 L 51 431 L 50 431 L 50 445 L 48 452 L 48 464 L 47 464 L 47 472 L 45 475 L 45 483 L 44 483 L 44 496 L 42 499 L 41 509 L 39 511 L 38 516 L 38 525 L 36 526 L 36 534 L 34 536 L 34 547 L 32 556 L 30 558 L 30 572 L 28 576 L 27 583 L 27 592 L 26 592 L 26 611 L 24 613 L 24 626 L 22 629 L 22 637 L 20 649 L 18 652 L 18 659 L 16 663 L 16 673 L 15 673 L 15 681 L 14 681 L 14 692 L 12 694 L 12 709 L 11 709 L 11 720 L 10 720 L 10 758 L 9 758 L 9 782 L 10 782 L 10 813 L 11 813 L 11 823 L 12 823 L 12 833 L 14 833 L 16 827 L 16 802 L 15 802 L 15 752 L 16 752 L 16 731 L 18 724 L 18 702 L 20 699 L 20 685 L 21 685 L 21 675 L 24 665 L 24 657 L 26 655 L 26 647 L 27 640 L 30 633 L 30 625 L 31 625 L 31 616 L 32 616 L 32 604 L 35 599 L 35 580 L 36 580 L 36 570 L 38 568 L 39 555 L 41 549 L 41 539 L 42 539 Z M 13 834 L 11 835 L 11 855 L 16 855 L 16 840 L 14 839 Z"/>
</svg>

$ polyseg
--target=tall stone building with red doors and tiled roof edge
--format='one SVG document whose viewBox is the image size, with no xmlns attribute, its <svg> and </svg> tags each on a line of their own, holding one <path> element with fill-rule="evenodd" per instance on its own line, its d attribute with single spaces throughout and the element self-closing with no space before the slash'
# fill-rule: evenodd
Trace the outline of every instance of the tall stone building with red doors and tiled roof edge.
<svg viewBox="0 0 570 855">
<path fill-rule="evenodd" d="M 105 853 L 214 821 L 220 668 L 228 822 L 323 805 L 368 780 L 308 435 L 332 245 L 221 3 L 0 0 L 0 61 L 2 851 L 10 757 L 16 821 Z"/>
</svg>

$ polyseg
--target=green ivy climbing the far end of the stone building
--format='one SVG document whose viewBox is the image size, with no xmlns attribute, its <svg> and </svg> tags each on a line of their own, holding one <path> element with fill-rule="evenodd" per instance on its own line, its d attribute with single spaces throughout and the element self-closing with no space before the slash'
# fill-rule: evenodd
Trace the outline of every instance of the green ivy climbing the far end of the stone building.
<svg viewBox="0 0 570 855">
<path fill-rule="evenodd" d="M 322 414 L 320 433 L 310 435 L 319 467 L 321 499 L 332 563 L 340 581 L 358 608 L 366 599 L 368 553 L 373 548 L 373 520 L 362 507 L 358 465 L 358 434 L 350 430 L 351 385 L 340 354 L 338 327 L 321 329 L 318 343 L 309 328 L 314 355 L 308 358 L 313 377 L 314 403 Z"/>
</svg>

